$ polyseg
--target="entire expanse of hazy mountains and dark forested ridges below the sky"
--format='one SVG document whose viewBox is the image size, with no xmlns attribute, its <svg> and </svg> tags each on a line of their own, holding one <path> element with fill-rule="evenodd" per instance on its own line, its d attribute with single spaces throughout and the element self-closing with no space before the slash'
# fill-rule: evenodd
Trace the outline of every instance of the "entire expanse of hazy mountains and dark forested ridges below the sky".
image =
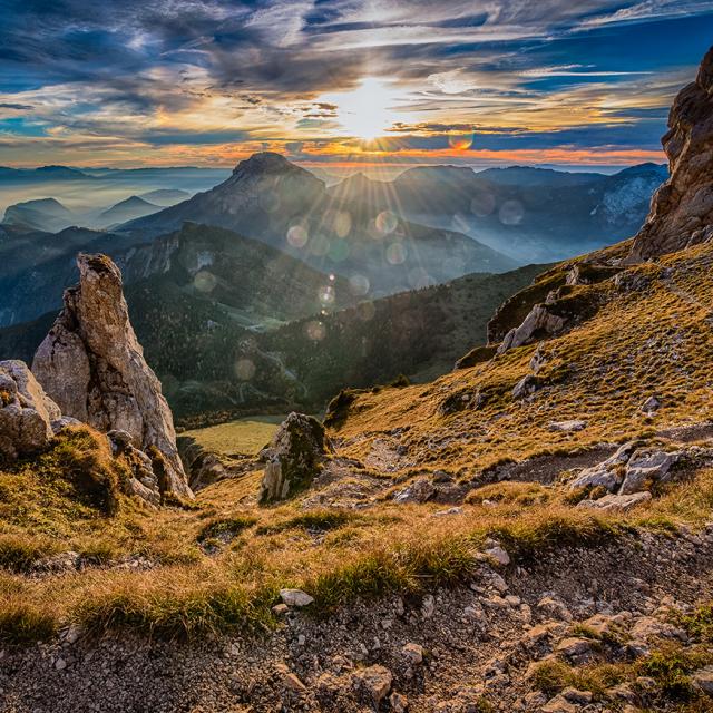
<svg viewBox="0 0 713 713">
<path fill-rule="evenodd" d="M 326 187 L 264 153 L 193 196 L 154 188 L 84 214 L 16 203 L 0 225 L 0 358 L 31 356 L 76 253 L 104 252 L 180 417 L 320 408 L 342 387 L 450 369 L 541 271 L 514 267 L 600 245 L 613 226 L 627 237 L 664 175 L 441 166 Z M 81 217 L 110 229 L 66 227 Z"/>
</svg>

